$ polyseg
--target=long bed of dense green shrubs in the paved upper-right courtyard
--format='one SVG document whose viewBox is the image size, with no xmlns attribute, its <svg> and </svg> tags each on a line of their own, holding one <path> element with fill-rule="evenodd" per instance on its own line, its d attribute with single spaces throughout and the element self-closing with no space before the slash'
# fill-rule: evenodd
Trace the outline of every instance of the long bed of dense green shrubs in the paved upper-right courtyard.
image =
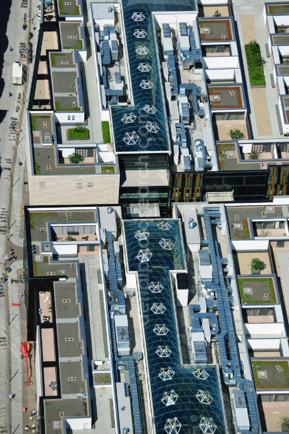
<svg viewBox="0 0 289 434">
<path fill-rule="evenodd" d="M 250 41 L 249 44 L 245 45 L 245 52 L 248 64 L 250 85 L 265 87 L 265 77 L 260 45 L 256 41 Z"/>
</svg>

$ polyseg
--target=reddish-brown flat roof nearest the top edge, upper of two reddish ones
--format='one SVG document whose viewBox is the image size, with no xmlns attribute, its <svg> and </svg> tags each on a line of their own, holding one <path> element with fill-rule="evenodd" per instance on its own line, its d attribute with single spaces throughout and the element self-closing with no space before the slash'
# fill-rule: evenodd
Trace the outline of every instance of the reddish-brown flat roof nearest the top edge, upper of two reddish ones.
<svg viewBox="0 0 289 434">
<path fill-rule="evenodd" d="M 201 42 L 234 40 L 231 18 L 201 18 L 198 25 Z"/>
</svg>

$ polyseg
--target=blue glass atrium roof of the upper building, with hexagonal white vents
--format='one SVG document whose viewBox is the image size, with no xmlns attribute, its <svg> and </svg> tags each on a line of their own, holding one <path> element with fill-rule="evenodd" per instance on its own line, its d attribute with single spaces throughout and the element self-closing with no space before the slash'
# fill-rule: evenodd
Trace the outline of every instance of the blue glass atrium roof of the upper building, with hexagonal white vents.
<svg viewBox="0 0 289 434">
<path fill-rule="evenodd" d="M 117 153 L 169 152 L 166 111 L 162 98 L 158 48 L 156 47 L 152 12 L 194 11 L 196 10 L 195 1 L 123 0 L 122 8 L 134 106 L 124 108 L 111 105 L 115 149 Z M 141 63 L 148 66 L 141 66 Z M 144 107 L 148 106 L 153 106 L 154 110 L 148 112 L 144 110 Z M 146 122 L 157 124 L 159 130 L 148 133 L 148 130 L 144 129 L 143 136 L 136 143 L 124 142 L 123 137 L 127 132 L 130 133 L 130 130 L 129 125 L 126 127 L 126 124 L 121 122 L 121 118 L 124 114 L 131 112 L 137 116 L 136 132 L 142 130 Z"/>
</svg>

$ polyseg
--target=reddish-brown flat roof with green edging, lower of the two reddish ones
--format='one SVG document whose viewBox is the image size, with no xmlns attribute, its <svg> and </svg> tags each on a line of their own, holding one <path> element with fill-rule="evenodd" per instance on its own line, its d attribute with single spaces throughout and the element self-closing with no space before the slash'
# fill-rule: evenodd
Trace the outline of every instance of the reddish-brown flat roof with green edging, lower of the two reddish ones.
<svg viewBox="0 0 289 434">
<path fill-rule="evenodd" d="M 208 85 L 211 109 L 243 109 L 241 85 Z"/>
</svg>

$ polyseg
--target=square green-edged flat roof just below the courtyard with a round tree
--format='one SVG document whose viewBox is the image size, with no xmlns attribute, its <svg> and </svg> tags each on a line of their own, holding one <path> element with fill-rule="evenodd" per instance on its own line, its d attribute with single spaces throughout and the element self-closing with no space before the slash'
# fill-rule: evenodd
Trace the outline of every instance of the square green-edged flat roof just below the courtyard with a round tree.
<svg viewBox="0 0 289 434">
<path fill-rule="evenodd" d="M 277 302 L 272 277 L 238 277 L 238 286 L 243 303 Z M 250 293 L 245 289 L 251 289 Z"/>
</svg>

